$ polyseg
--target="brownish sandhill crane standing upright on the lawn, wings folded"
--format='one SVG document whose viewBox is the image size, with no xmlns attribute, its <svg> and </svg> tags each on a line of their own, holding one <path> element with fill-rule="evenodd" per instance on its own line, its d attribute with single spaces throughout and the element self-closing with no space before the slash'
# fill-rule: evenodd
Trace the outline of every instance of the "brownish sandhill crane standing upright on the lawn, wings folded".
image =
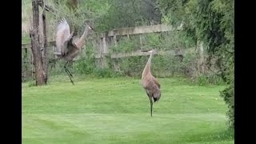
<svg viewBox="0 0 256 144">
<path fill-rule="evenodd" d="M 147 96 L 150 98 L 150 112 L 152 117 L 153 100 L 158 102 L 161 97 L 160 84 L 156 78 L 150 72 L 151 59 L 154 55 L 154 50 L 149 50 L 150 58 L 146 62 L 146 66 L 142 72 L 142 87 L 146 90 Z"/>
</svg>

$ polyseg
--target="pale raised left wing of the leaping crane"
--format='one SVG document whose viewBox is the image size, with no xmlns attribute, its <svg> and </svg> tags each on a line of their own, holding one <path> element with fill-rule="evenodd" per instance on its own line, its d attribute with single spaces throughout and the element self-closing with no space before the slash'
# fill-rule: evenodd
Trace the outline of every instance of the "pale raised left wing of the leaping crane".
<svg viewBox="0 0 256 144">
<path fill-rule="evenodd" d="M 66 19 L 62 18 L 62 20 L 58 22 L 56 29 L 56 48 L 58 52 L 64 51 L 65 46 L 63 44 L 68 38 L 70 38 L 70 26 L 66 22 Z"/>
</svg>

